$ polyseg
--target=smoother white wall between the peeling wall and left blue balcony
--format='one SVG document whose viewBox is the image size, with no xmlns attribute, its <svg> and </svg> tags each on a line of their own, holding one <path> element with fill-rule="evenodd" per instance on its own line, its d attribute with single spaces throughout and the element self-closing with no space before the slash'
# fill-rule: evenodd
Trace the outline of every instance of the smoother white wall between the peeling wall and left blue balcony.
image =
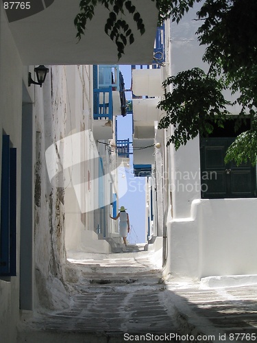
<svg viewBox="0 0 257 343">
<path fill-rule="evenodd" d="M 109 252 L 109 244 L 97 236 L 97 220 L 94 213 L 98 203 L 98 157 L 97 145 L 93 137 L 93 67 L 66 66 L 65 88 L 60 89 L 64 99 L 65 115 L 56 113 L 59 120 L 64 116 L 66 133 L 62 137 L 71 138 L 73 149 L 68 148 L 71 160 L 75 150 L 81 155 L 80 167 L 69 168 L 66 173 L 64 191 L 65 204 L 65 246 L 66 250 L 89 252 Z M 56 80 L 56 90 L 60 88 Z M 56 91 L 57 92 L 57 91 Z M 56 97 L 56 95 L 55 95 Z M 58 99 L 58 97 L 57 97 Z M 79 134 L 79 138 L 77 138 Z M 78 145 L 78 146 L 76 146 Z M 74 150 L 74 151 L 73 151 Z M 74 156 L 73 156 L 74 155 Z M 69 178 L 71 182 L 69 182 Z M 104 183 L 107 196 L 108 182 Z"/>
</svg>

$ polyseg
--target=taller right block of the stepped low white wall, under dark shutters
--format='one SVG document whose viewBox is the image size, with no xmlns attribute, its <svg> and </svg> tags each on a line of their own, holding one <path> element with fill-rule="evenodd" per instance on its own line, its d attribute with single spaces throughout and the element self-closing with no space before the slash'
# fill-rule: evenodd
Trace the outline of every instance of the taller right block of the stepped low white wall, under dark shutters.
<svg viewBox="0 0 257 343">
<path fill-rule="evenodd" d="M 201 200 L 199 277 L 257 273 L 257 199 Z"/>
</svg>

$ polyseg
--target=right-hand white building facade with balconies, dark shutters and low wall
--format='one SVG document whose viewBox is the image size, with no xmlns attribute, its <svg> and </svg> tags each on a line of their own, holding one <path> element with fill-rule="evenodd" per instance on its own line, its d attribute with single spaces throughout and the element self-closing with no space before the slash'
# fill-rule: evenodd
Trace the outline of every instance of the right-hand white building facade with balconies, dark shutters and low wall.
<svg viewBox="0 0 257 343">
<path fill-rule="evenodd" d="M 199 46 L 195 35 L 199 25 L 193 20 L 196 10 L 189 11 L 179 25 L 165 25 L 166 59 L 165 65 L 157 69 L 159 86 L 167 75 L 193 67 L 208 70 L 201 61 L 204 47 Z M 154 98 L 134 100 L 134 139 L 138 139 L 138 132 L 147 132 L 145 138 L 154 143 L 151 163 L 149 159 L 151 178 L 147 199 L 151 210 L 147 230 L 149 239 L 163 237 L 164 274 L 191 279 L 256 274 L 256 168 L 224 164 L 228 143 L 235 137 L 231 126 L 223 132 L 215 130 L 207 139 L 197 137 L 188 141 L 175 151 L 173 145 L 166 146 L 173 128 L 157 128 L 164 113 L 158 113 L 153 106 L 155 117 L 149 121 L 150 111 L 145 106 L 142 123 L 137 121 L 140 102 L 150 104 L 156 102 L 156 97 L 161 99 L 158 81 L 151 79 L 150 73 L 154 72 L 134 72 L 136 95 L 147 95 L 149 89 L 145 90 L 143 85 L 154 85 L 153 92 L 148 93 Z M 235 116 L 239 113 L 236 106 L 230 111 Z M 145 152 L 137 154 L 140 160 Z M 151 199 L 153 192 L 155 196 Z"/>
</svg>

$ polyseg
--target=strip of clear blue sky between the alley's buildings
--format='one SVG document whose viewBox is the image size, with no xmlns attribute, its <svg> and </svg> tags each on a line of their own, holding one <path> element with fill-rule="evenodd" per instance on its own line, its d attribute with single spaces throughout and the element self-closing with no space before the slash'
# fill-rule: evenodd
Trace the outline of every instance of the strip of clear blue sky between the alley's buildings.
<svg viewBox="0 0 257 343">
<path fill-rule="evenodd" d="M 123 74 L 125 88 L 131 86 L 130 66 L 120 66 Z M 131 94 L 126 93 L 126 98 L 131 99 Z M 118 139 L 130 139 L 132 141 L 132 115 L 118 116 Z M 121 171 L 123 173 L 123 171 Z M 131 244 L 144 243 L 145 234 L 145 178 L 135 178 L 133 174 L 133 156 L 130 155 L 130 167 L 125 171 L 127 179 L 127 192 L 120 198 L 119 206 L 125 206 L 130 215 L 131 233 L 127 239 Z"/>
</svg>

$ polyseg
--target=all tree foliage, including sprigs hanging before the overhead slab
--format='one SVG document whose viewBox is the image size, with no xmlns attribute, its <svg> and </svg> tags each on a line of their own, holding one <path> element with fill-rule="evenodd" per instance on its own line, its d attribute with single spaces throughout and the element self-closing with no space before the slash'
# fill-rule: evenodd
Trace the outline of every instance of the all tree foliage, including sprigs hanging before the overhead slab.
<svg viewBox="0 0 257 343">
<path fill-rule="evenodd" d="M 180 23 L 184 14 L 195 3 L 202 3 L 196 13 L 199 21 L 196 34 L 200 45 L 206 46 L 203 61 L 210 66 L 208 73 L 194 68 L 168 78 L 164 86 L 171 85 L 171 92 L 164 95 L 159 108 L 167 115 L 159 128 L 173 124 L 175 129 L 168 145 L 186 144 L 197 133 L 210 134 L 214 123 L 223 127 L 230 104 L 223 97 L 229 90 L 236 99 L 233 104 L 241 106 L 239 118 L 256 116 L 257 109 L 257 1 L 256 0 L 151 0 L 158 8 L 158 23 L 166 19 Z M 134 32 L 127 23 L 132 16 L 141 34 L 145 32 L 143 13 L 136 10 L 135 0 L 81 0 L 80 12 L 75 18 L 77 38 L 86 30 L 86 23 L 93 19 L 97 5 L 107 10 L 105 32 L 116 44 L 118 58 L 124 54 L 126 45 L 134 42 Z M 236 127 L 240 121 L 236 121 Z M 256 163 L 256 119 L 249 132 L 243 132 L 228 150 L 226 161 L 234 159 L 237 164 L 246 161 Z M 250 142 L 252 142 L 250 144 Z M 243 147 L 247 147 L 244 149 Z M 247 151 L 246 151 L 247 150 Z"/>
</svg>

